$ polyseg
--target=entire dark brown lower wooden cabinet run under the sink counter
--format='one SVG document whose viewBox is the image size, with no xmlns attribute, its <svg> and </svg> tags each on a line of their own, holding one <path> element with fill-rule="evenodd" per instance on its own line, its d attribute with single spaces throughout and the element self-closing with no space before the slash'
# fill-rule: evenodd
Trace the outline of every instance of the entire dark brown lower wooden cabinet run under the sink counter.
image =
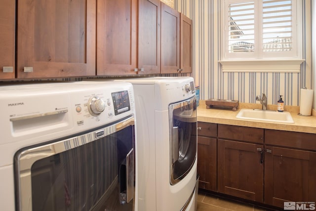
<svg viewBox="0 0 316 211">
<path fill-rule="evenodd" d="M 197 126 L 199 188 L 281 209 L 284 202 L 316 202 L 316 134 Z"/>
</svg>

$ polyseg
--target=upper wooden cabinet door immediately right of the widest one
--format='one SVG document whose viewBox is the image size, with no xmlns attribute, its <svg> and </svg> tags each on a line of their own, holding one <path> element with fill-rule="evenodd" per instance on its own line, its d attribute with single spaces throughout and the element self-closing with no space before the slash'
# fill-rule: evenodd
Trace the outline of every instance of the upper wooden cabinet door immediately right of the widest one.
<svg viewBox="0 0 316 211">
<path fill-rule="evenodd" d="M 97 75 L 137 74 L 137 0 L 97 1 Z"/>
</svg>

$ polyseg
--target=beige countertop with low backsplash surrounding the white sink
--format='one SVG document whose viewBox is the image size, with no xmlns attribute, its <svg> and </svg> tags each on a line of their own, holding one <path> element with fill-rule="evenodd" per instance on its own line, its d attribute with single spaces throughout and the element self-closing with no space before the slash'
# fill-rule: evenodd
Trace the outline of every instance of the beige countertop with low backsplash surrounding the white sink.
<svg viewBox="0 0 316 211">
<path fill-rule="evenodd" d="M 242 108 L 261 108 L 261 104 L 239 103 L 237 111 L 229 109 L 206 109 L 204 100 L 199 100 L 197 107 L 197 121 L 206 123 L 217 123 L 224 125 L 235 125 L 245 127 L 259 127 L 266 129 L 288 130 L 296 132 L 316 133 L 316 116 L 300 116 L 298 106 L 285 106 L 284 110 L 291 113 L 294 124 L 271 123 L 261 121 L 240 120 L 236 118 Z M 276 105 L 268 105 L 268 109 L 276 110 Z"/>
</svg>

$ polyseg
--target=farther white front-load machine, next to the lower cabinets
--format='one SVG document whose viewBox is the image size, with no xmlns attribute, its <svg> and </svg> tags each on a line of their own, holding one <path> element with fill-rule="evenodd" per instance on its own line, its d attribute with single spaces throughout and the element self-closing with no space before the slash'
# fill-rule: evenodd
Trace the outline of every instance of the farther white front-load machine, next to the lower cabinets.
<svg viewBox="0 0 316 211">
<path fill-rule="evenodd" d="M 125 81 L 133 84 L 135 94 L 138 211 L 195 211 L 197 105 L 194 79 L 155 77 Z"/>
</svg>

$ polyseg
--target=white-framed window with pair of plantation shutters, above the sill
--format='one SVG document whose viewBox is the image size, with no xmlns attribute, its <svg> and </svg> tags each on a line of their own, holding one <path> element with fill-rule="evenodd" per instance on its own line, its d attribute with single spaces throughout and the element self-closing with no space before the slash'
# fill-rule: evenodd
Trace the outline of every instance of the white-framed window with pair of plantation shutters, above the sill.
<svg viewBox="0 0 316 211">
<path fill-rule="evenodd" d="M 223 60 L 298 58 L 297 0 L 225 0 Z"/>
</svg>

